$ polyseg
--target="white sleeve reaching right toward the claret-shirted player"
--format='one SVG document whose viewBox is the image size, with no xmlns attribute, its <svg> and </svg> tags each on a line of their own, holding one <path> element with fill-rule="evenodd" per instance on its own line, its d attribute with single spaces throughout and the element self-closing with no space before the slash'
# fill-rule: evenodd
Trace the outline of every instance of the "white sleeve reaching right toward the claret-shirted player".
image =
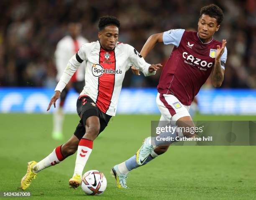
<svg viewBox="0 0 256 200">
<path fill-rule="evenodd" d="M 151 64 L 147 63 L 144 58 L 138 53 L 138 51 L 133 48 L 132 46 L 129 45 L 129 61 L 128 63 L 132 63 L 132 65 L 142 71 L 142 73 L 144 74 L 144 76 L 151 76 L 156 74 L 156 71 L 150 73 L 148 71 L 149 66 L 151 66 Z"/>
</svg>

